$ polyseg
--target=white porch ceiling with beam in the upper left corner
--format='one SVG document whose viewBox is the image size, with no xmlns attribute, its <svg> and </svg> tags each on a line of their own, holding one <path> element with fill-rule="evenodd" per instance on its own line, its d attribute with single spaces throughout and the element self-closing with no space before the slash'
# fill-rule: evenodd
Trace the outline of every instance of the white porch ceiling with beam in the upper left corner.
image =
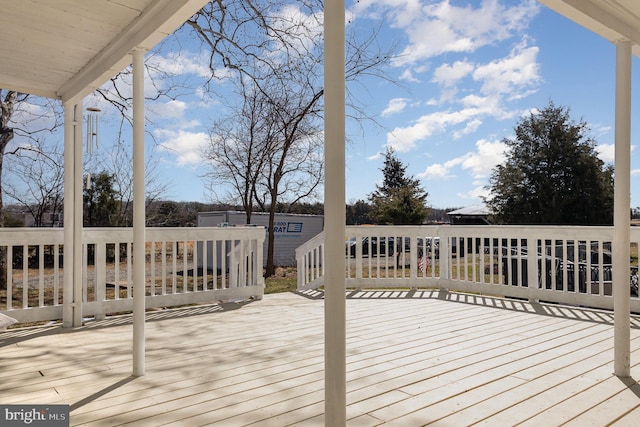
<svg viewBox="0 0 640 427">
<path fill-rule="evenodd" d="M 0 88 L 78 99 L 207 0 L 0 0 Z"/>
</svg>

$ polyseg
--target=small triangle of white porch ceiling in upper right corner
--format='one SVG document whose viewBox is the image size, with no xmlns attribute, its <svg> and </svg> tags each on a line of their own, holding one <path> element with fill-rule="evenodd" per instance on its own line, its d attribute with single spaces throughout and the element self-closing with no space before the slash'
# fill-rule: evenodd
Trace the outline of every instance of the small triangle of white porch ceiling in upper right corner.
<svg viewBox="0 0 640 427">
<path fill-rule="evenodd" d="M 640 2 L 638 0 L 538 0 L 575 23 L 612 43 L 628 39 L 640 57 Z"/>
</svg>

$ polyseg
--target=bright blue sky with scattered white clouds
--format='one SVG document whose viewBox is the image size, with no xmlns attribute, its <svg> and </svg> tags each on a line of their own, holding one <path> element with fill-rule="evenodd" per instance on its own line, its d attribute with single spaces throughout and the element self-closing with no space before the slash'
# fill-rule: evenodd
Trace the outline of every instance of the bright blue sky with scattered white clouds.
<svg viewBox="0 0 640 427">
<path fill-rule="evenodd" d="M 480 203 L 491 169 L 504 159 L 502 139 L 513 135 L 519 117 L 549 101 L 587 122 L 601 158 L 613 163 L 615 46 L 606 40 L 533 0 L 360 0 L 347 5 L 347 17 L 354 22 L 383 19 L 381 36 L 396 40 L 401 53 L 388 70 L 401 85 L 378 80 L 354 87 L 378 125 L 348 124 L 348 202 L 366 199 L 374 190 L 382 179 L 383 153 L 391 146 L 407 173 L 429 193 L 430 206 Z M 170 46 L 152 60 L 193 81 L 207 75 L 202 57 L 189 52 L 188 43 L 179 57 Z M 635 58 L 633 65 L 638 66 Z M 636 71 L 635 88 L 640 88 L 639 78 Z M 104 108 L 101 140 L 108 140 L 115 112 L 95 98 L 85 101 L 94 104 Z M 212 122 L 223 115 L 220 103 L 199 91 L 148 104 L 155 142 L 147 152 L 157 165 L 156 179 L 169 185 L 166 198 L 212 201 L 202 179 L 207 166 L 200 150 Z M 637 135 L 634 129 L 632 145 Z M 631 161 L 631 205 L 640 206 L 635 151 Z"/>
</svg>

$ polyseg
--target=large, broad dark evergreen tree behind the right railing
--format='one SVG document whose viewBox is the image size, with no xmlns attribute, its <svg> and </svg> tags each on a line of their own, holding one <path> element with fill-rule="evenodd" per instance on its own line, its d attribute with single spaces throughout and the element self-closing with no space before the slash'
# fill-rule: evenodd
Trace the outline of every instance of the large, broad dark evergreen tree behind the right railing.
<svg viewBox="0 0 640 427">
<path fill-rule="evenodd" d="M 553 103 L 523 118 L 485 200 L 502 224 L 607 225 L 613 222 L 613 168 L 583 121 Z"/>
</svg>

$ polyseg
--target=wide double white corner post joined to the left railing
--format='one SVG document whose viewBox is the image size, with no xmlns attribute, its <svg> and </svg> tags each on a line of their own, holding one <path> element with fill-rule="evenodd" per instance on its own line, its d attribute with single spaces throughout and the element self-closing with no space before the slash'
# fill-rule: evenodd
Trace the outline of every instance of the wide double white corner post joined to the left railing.
<svg viewBox="0 0 640 427">
<path fill-rule="evenodd" d="M 82 326 L 82 101 L 64 103 L 62 326 Z"/>
</svg>

